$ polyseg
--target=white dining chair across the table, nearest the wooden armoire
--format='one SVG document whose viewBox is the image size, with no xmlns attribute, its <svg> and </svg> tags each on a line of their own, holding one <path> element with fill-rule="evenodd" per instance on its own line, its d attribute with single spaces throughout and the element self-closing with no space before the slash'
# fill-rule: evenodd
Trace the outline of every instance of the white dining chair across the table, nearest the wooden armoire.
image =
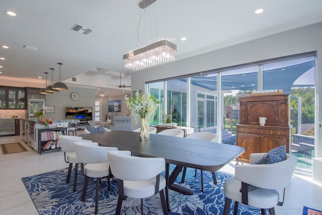
<svg viewBox="0 0 322 215">
<path fill-rule="evenodd" d="M 205 140 L 205 141 L 210 141 L 210 142 L 218 142 L 218 140 L 219 140 L 219 136 L 217 134 L 210 133 L 207 131 L 195 132 L 195 133 L 192 133 L 192 134 L 186 136 L 186 138 L 199 139 L 199 140 Z M 187 167 L 184 167 L 181 183 L 185 183 L 186 172 L 187 172 Z M 203 170 L 200 170 L 200 176 L 201 176 L 201 192 L 203 192 Z M 195 169 L 195 177 L 197 177 L 197 169 Z M 213 178 L 213 183 L 217 184 L 216 174 L 214 172 L 212 172 L 212 178 Z"/>
</svg>

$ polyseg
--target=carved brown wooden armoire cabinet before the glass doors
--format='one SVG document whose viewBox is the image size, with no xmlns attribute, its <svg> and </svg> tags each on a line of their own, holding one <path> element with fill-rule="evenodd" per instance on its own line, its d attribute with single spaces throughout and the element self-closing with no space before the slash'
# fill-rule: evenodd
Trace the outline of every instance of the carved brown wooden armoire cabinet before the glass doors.
<svg viewBox="0 0 322 215">
<path fill-rule="evenodd" d="M 245 153 L 237 161 L 249 162 L 252 153 L 267 153 L 283 145 L 289 153 L 289 95 L 254 94 L 240 97 L 238 101 L 236 144 L 243 147 Z M 267 118 L 264 126 L 259 124 L 259 117 Z"/>
</svg>

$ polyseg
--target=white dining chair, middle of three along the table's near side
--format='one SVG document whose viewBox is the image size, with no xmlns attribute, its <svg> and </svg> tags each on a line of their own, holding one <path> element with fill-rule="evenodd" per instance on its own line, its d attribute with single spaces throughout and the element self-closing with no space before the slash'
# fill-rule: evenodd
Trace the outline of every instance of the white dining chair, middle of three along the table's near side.
<svg viewBox="0 0 322 215">
<path fill-rule="evenodd" d="M 107 152 L 116 151 L 114 147 L 89 146 L 86 142 L 74 142 L 74 149 L 78 161 L 81 162 L 82 173 L 85 176 L 81 201 L 85 201 L 89 178 L 96 178 L 95 214 L 98 213 L 99 182 L 102 177 L 107 177 L 110 190 L 110 163 Z"/>
</svg>

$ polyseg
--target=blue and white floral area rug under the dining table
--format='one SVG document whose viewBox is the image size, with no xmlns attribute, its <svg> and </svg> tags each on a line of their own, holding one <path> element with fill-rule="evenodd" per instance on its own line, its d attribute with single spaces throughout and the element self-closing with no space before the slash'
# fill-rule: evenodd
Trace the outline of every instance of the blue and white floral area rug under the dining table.
<svg viewBox="0 0 322 215">
<path fill-rule="evenodd" d="M 95 186 L 90 179 L 86 200 L 81 200 L 84 177 L 78 171 L 77 190 L 72 192 L 73 172 L 70 183 L 66 184 L 67 169 L 34 175 L 22 178 L 23 183 L 30 194 L 39 214 L 94 214 L 95 210 Z M 170 208 L 169 214 L 222 214 L 225 204 L 223 195 L 224 182 L 231 175 L 216 172 L 217 184 L 213 184 L 210 172 L 204 171 L 204 192 L 201 192 L 200 171 L 194 177 L 194 169 L 188 168 L 185 187 L 194 190 L 194 195 L 183 195 L 169 190 Z M 181 175 L 178 182 L 181 181 Z M 118 186 L 115 178 L 111 179 L 111 190 L 108 191 L 106 181 L 102 180 L 99 194 L 99 214 L 115 214 Z M 156 194 L 143 200 L 144 214 L 163 214 L 159 195 Z M 232 214 L 233 203 L 231 204 Z M 140 214 L 140 199 L 126 198 L 122 203 L 122 214 Z M 238 214 L 261 214 L 260 209 L 239 204 Z"/>
</svg>

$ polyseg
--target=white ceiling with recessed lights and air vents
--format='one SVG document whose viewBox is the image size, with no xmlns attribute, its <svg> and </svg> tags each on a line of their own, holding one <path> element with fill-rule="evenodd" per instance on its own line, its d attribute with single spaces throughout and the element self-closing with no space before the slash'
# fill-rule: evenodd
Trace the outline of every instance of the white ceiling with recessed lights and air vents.
<svg viewBox="0 0 322 215">
<path fill-rule="evenodd" d="M 118 76 L 122 73 L 122 85 L 130 85 L 130 73 L 124 68 L 122 57 L 137 42 L 139 17 L 143 12 L 139 2 L 1 0 L 0 45 L 10 48 L 0 48 L 0 57 L 6 58 L 0 60 L 3 66 L 0 77 L 29 78 L 36 82 L 37 77 L 44 77 L 44 72 L 50 73 L 49 68 L 53 67 L 54 82 L 57 82 L 59 66 L 56 63 L 62 62 L 62 81 L 70 82 L 71 77 L 76 77 L 80 81 L 74 84 L 110 88 L 107 84 L 119 85 Z M 258 8 L 264 12 L 256 15 L 254 11 Z M 8 16 L 5 10 L 12 10 L 17 16 Z M 321 22 L 322 1 L 157 0 L 146 9 L 141 20 L 140 40 L 157 34 L 154 17 L 159 34 L 176 38 L 176 60 L 180 60 Z M 84 35 L 70 30 L 76 23 L 94 31 Z M 187 40 L 181 41 L 181 37 Z M 40 49 L 32 51 L 23 45 Z M 85 75 L 89 71 L 92 76 Z"/>
</svg>

